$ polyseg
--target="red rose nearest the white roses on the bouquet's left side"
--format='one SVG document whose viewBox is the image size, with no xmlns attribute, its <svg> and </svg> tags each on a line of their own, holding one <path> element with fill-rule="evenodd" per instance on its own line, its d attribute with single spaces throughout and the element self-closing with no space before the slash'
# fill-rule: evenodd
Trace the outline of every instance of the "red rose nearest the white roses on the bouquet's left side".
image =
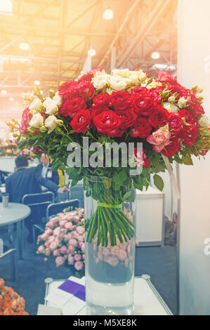
<svg viewBox="0 0 210 330">
<path fill-rule="evenodd" d="M 65 100 L 60 107 L 60 114 L 67 117 L 70 116 L 71 118 L 74 117 L 79 110 L 86 108 L 86 100 L 84 96 L 74 96 L 70 100 Z"/>
</svg>

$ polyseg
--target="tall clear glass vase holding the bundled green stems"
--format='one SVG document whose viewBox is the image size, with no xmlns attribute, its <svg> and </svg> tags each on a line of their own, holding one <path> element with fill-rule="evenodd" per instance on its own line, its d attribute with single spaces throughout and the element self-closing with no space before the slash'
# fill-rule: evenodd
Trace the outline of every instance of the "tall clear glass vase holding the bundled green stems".
<svg viewBox="0 0 210 330">
<path fill-rule="evenodd" d="M 136 190 L 96 176 L 84 190 L 87 314 L 132 315 Z"/>
</svg>

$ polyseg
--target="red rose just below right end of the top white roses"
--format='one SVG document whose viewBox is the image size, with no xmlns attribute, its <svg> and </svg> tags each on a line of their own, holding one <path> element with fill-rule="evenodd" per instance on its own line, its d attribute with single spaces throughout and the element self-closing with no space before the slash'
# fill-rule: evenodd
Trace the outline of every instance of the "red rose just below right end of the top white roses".
<svg viewBox="0 0 210 330">
<path fill-rule="evenodd" d="M 148 116 L 157 105 L 154 93 L 145 87 L 135 87 L 131 89 L 131 106 L 136 114 Z"/>
</svg>

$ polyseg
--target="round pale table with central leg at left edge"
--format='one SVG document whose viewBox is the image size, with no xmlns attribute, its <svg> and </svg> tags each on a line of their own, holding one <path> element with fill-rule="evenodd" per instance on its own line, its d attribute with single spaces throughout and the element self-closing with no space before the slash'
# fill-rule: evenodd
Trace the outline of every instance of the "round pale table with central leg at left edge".
<svg viewBox="0 0 210 330">
<path fill-rule="evenodd" d="M 8 203 L 8 207 L 4 207 L 0 203 L 0 227 L 6 225 L 14 225 L 17 223 L 18 234 L 18 255 L 22 259 L 22 220 L 27 218 L 31 213 L 29 206 L 19 203 Z"/>
</svg>

